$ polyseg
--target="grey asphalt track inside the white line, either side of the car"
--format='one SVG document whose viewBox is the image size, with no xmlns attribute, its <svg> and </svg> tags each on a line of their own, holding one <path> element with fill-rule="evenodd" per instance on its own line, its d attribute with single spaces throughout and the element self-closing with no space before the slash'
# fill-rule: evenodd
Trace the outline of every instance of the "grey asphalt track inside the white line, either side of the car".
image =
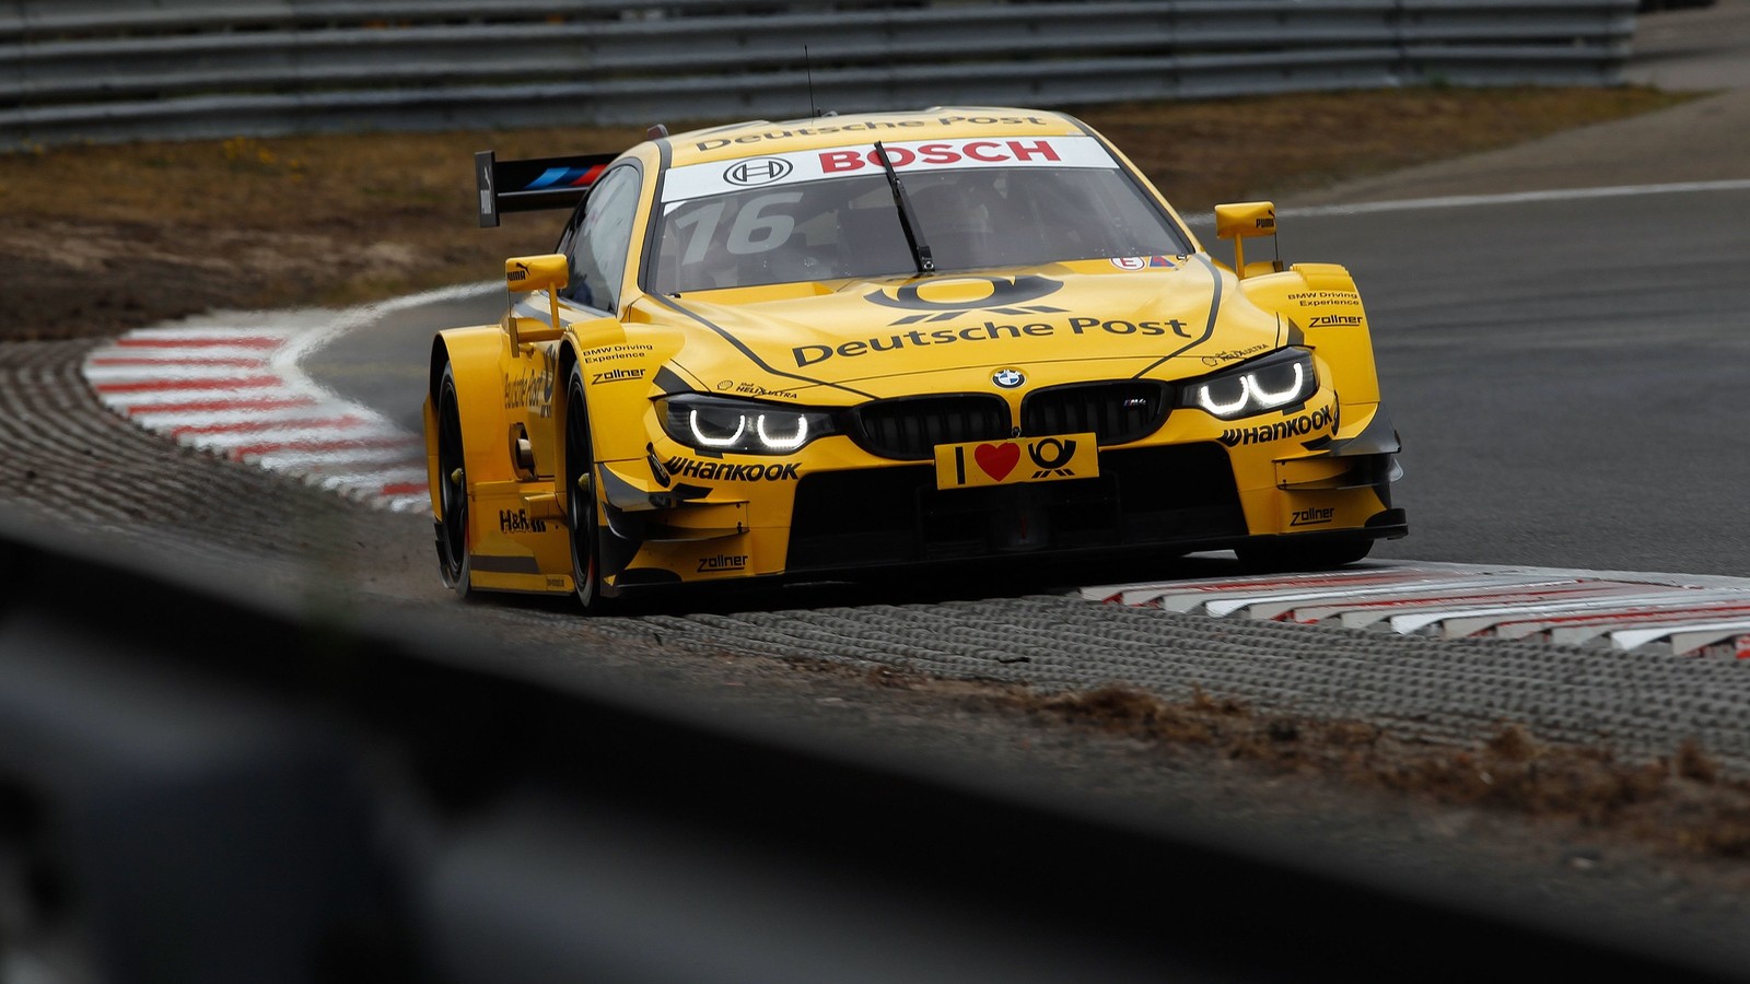
<svg viewBox="0 0 1750 984">
<path fill-rule="evenodd" d="M 1284 210 L 1286 261 L 1354 273 L 1405 441 L 1412 532 L 1376 557 L 1750 569 L 1746 214 L 1750 184 Z M 418 432 L 434 326 L 504 303 L 396 310 L 303 366 Z"/>
</svg>

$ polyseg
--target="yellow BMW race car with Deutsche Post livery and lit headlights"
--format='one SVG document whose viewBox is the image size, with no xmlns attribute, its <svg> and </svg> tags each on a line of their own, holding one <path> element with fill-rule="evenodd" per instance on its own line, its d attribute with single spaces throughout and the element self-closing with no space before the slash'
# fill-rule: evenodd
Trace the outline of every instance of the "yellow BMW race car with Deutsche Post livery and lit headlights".
<svg viewBox="0 0 1750 984">
<path fill-rule="evenodd" d="M 1029 109 L 746 123 L 476 158 L 481 224 L 570 208 L 441 331 L 425 446 L 457 592 L 842 580 L 1407 531 L 1342 266 L 1211 257 L 1087 124 Z M 1256 249 L 1253 252 L 1258 252 Z"/>
</svg>

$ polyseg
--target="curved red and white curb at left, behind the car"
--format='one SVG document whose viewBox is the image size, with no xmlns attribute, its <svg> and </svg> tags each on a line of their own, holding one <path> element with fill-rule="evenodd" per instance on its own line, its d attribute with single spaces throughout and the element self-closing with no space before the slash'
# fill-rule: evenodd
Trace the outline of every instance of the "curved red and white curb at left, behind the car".
<svg viewBox="0 0 1750 984">
<path fill-rule="evenodd" d="M 376 508 L 427 510 L 425 439 L 317 385 L 298 362 L 388 310 L 480 291 L 350 312 L 208 315 L 130 331 L 93 350 L 82 369 L 103 406 L 180 445 Z"/>
</svg>

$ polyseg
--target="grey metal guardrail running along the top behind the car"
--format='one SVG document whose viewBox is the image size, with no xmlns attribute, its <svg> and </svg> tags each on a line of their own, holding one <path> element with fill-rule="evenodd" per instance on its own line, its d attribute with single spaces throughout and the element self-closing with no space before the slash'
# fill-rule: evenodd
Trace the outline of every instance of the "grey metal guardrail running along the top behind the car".
<svg viewBox="0 0 1750 984">
<path fill-rule="evenodd" d="M 1636 0 L 0 0 L 0 149 L 1617 84 Z"/>
</svg>

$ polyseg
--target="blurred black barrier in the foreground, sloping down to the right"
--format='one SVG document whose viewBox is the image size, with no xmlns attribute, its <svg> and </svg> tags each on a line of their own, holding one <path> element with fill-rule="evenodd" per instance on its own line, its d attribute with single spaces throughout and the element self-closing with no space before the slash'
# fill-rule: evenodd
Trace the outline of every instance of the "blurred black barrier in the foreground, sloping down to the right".
<svg viewBox="0 0 1750 984">
<path fill-rule="evenodd" d="M 1304 844 L 147 569 L 0 513 L 0 980 L 1706 977 Z"/>
</svg>

